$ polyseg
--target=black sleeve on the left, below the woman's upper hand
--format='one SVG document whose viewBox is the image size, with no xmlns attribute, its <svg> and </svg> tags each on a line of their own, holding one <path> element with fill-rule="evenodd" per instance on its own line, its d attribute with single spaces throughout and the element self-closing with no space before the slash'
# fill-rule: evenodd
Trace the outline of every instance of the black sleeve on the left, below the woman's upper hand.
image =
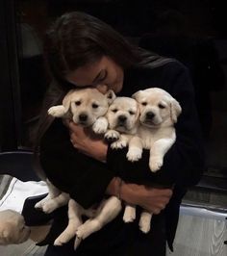
<svg viewBox="0 0 227 256">
<path fill-rule="evenodd" d="M 114 178 L 106 164 L 71 145 L 61 119 L 56 119 L 41 139 L 39 159 L 48 179 L 84 208 L 100 201 Z"/>
</svg>

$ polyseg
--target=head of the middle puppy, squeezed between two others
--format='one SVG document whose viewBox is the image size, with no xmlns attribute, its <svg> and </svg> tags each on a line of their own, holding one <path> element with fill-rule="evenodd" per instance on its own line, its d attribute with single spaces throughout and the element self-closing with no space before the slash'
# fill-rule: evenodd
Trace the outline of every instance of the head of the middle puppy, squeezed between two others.
<svg viewBox="0 0 227 256">
<path fill-rule="evenodd" d="M 129 97 L 116 97 L 110 105 L 107 118 L 110 129 L 129 133 L 139 120 L 139 105 Z"/>
</svg>

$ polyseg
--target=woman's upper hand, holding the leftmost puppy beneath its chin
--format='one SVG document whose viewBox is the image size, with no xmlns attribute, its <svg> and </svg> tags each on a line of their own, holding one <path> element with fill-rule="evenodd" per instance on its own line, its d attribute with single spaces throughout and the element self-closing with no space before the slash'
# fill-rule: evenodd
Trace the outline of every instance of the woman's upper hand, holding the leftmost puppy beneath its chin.
<svg viewBox="0 0 227 256">
<path fill-rule="evenodd" d="M 106 161 L 108 145 L 103 141 L 103 137 L 72 121 L 68 121 L 67 126 L 70 130 L 70 141 L 75 148 L 98 161 Z"/>
</svg>

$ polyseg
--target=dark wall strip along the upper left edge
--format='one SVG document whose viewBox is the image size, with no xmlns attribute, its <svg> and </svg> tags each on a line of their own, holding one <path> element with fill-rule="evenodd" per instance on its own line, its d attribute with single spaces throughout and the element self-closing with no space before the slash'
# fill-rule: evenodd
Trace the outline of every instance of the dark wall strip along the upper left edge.
<svg viewBox="0 0 227 256">
<path fill-rule="evenodd" d="M 18 66 L 12 0 L 0 1 L 0 150 L 19 144 L 20 104 Z"/>
</svg>

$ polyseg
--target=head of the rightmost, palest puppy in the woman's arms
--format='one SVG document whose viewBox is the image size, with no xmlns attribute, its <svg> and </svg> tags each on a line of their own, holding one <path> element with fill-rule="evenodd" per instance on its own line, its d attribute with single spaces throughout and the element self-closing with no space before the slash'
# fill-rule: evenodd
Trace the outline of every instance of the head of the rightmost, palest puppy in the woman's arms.
<svg viewBox="0 0 227 256">
<path fill-rule="evenodd" d="M 139 90 L 133 94 L 139 102 L 139 121 L 142 125 L 159 128 L 172 125 L 181 114 L 181 107 L 167 91 L 159 88 Z"/>
</svg>

